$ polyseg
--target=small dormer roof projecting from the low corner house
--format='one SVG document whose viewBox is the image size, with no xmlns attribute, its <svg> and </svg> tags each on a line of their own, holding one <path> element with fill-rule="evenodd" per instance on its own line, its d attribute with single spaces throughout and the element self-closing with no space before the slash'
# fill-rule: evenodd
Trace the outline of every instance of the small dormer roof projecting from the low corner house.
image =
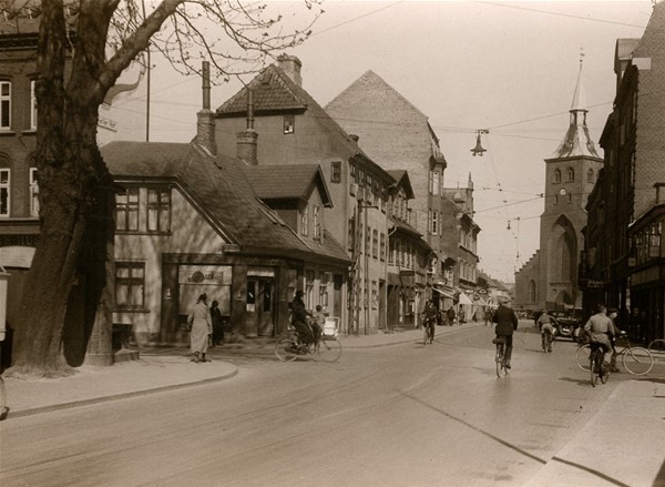
<svg viewBox="0 0 665 487">
<path fill-rule="evenodd" d="M 260 200 L 306 200 L 313 187 L 318 185 L 324 206 L 332 206 L 319 165 L 248 165 L 245 174 Z"/>
</svg>

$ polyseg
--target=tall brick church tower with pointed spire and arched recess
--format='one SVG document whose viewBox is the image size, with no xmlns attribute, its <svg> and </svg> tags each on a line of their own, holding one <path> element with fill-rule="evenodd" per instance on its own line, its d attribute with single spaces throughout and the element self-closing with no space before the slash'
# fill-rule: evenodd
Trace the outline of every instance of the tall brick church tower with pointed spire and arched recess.
<svg viewBox="0 0 665 487">
<path fill-rule="evenodd" d="M 541 215 L 540 258 L 535 297 L 540 307 L 581 308 L 577 283 L 586 200 L 603 159 L 589 135 L 586 99 L 582 83 L 583 59 L 570 110 L 570 125 L 553 158 L 545 159 L 545 209 Z"/>
</svg>

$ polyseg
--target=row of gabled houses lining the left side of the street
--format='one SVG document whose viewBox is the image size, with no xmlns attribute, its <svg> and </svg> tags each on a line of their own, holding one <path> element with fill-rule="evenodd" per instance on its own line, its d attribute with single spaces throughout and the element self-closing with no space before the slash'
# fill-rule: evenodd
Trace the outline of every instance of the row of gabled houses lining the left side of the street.
<svg viewBox="0 0 665 487">
<path fill-rule="evenodd" d="M 10 323 L 39 242 L 37 22 L 24 22 L 0 35 Z M 207 71 L 190 143 L 102 146 L 117 187 L 115 323 L 142 343 L 183 342 L 206 293 L 227 331 L 274 336 L 298 288 L 348 334 L 416 326 L 429 298 L 481 317 L 473 182 L 444 186 L 427 115 L 371 71 L 324 108 L 286 54 L 213 110 Z"/>
</svg>

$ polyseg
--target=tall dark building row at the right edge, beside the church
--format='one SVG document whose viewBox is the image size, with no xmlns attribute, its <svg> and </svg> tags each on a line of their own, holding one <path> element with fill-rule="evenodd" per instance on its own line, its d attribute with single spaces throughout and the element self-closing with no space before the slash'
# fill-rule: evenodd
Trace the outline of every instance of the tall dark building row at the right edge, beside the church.
<svg viewBox="0 0 665 487">
<path fill-rule="evenodd" d="M 616 42 L 616 97 L 601 145 L 605 164 L 587 206 L 585 296 L 621 311 L 644 342 L 665 335 L 665 3 L 641 39 Z"/>
</svg>

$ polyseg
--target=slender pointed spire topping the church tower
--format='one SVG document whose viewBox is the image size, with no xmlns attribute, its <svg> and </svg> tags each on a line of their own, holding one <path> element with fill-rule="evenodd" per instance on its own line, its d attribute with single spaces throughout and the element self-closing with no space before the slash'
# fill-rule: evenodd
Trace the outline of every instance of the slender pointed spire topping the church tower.
<svg viewBox="0 0 665 487">
<path fill-rule="evenodd" d="M 579 158 L 592 156 L 600 158 L 595 150 L 593 141 L 589 135 L 586 126 L 586 97 L 584 93 L 584 83 L 582 82 L 582 67 L 584 63 L 584 52 L 580 52 L 580 72 L 577 73 L 577 83 L 573 94 L 573 104 L 571 105 L 570 126 L 565 139 L 556 149 L 556 158 Z"/>
</svg>

